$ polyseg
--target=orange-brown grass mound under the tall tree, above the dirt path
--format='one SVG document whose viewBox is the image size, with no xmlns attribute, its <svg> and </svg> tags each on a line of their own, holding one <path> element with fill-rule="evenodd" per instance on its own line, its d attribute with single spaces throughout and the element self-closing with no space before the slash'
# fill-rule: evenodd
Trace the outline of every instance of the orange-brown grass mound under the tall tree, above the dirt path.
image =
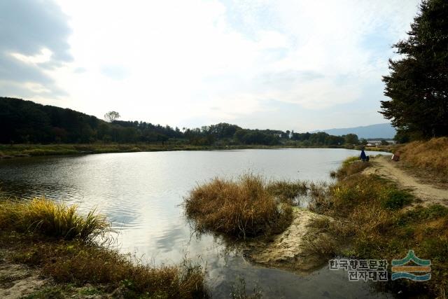
<svg viewBox="0 0 448 299">
<path fill-rule="evenodd" d="M 400 152 L 400 158 L 411 165 L 448 175 L 448 137 L 413 141 L 400 146 L 397 151 Z"/>
</svg>

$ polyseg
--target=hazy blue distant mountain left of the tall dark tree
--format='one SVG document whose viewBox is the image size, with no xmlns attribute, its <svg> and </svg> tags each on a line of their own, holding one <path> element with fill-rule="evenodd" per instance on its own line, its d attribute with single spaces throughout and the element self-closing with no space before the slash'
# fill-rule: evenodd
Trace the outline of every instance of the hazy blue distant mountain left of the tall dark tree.
<svg viewBox="0 0 448 299">
<path fill-rule="evenodd" d="M 316 130 L 315 132 L 325 132 L 330 135 L 356 134 L 359 138 L 372 139 L 384 138 L 392 139 L 395 136 L 395 128 L 390 123 L 377 123 L 375 125 L 365 125 L 362 127 L 345 127 L 341 129 Z"/>
</svg>

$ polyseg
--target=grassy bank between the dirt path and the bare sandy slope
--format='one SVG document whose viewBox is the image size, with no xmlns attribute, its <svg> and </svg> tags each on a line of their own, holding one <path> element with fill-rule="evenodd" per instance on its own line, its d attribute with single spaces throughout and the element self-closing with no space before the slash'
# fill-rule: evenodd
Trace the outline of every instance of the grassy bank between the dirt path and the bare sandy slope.
<svg viewBox="0 0 448 299">
<path fill-rule="evenodd" d="M 316 225 L 335 239 L 335 256 L 386 259 L 390 264 L 413 249 L 419 258 L 431 260 L 430 281 L 400 279 L 389 286 L 401 290 L 404 296 L 428 293 L 430 297 L 444 298 L 448 292 L 448 208 L 420 206 L 416 198 L 395 183 L 362 174 L 369 166 L 344 162 L 327 196 L 314 197 L 311 204 L 312 210 L 335 221 Z"/>
</svg>

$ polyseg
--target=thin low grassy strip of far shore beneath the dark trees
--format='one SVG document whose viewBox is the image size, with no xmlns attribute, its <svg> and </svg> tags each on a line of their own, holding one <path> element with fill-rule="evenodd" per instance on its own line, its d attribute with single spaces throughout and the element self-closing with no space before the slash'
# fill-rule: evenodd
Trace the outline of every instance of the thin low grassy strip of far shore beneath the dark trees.
<svg viewBox="0 0 448 299">
<path fill-rule="evenodd" d="M 0 144 L 0 159 L 22 158 L 44 155 L 85 155 L 92 153 L 135 153 L 145 151 L 222 151 L 238 149 L 276 148 L 346 148 L 360 149 L 360 146 L 300 146 L 300 145 L 214 145 L 195 146 L 190 144 Z M 393 146 L 365 147 L 367 151 L 392 151 Z"/>
</svg>

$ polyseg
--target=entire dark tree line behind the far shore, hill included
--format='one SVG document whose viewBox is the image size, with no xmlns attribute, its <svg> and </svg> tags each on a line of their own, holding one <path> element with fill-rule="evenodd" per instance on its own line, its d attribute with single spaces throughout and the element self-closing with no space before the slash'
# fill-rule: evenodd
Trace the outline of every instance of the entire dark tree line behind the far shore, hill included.
<svg viewBox="0 0 448 299">
<path fill-rule="evenodd" d="M 248 130 L 228 123 L 194 129 L 183 128 L 183 130 L 142 121 L 113 120 L 108 123 L 95 116 L 71 109 L 44 106 L 8 97 L 0 97 L 0 127 L 0 143 L 2 144 L 165 143 L 166 141 L 198 146 L 358 144 L 358 137 L 353 134 L 337 137 L 325 132 L 311 134 L 279 130 Z"/>
</svg>

